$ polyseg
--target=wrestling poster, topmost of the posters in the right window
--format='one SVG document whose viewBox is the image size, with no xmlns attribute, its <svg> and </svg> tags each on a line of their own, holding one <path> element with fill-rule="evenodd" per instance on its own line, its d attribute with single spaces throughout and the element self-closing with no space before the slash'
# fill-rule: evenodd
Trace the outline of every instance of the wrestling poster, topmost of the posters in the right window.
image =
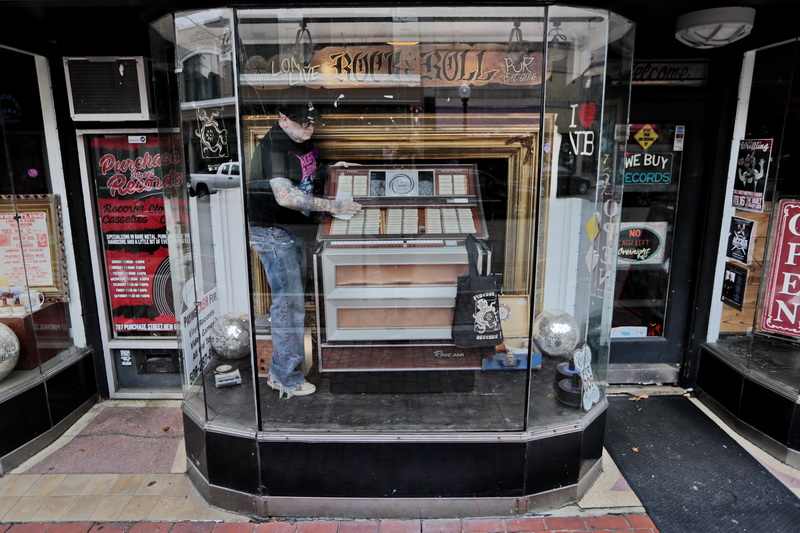
<svg viewBox="0 0 800 533">
<path fill-rule="evenodd" d="M 747 139 L 739 142 L 733 207 L 744 211 L 764 211 L 772 139 Z"/>
</svg>

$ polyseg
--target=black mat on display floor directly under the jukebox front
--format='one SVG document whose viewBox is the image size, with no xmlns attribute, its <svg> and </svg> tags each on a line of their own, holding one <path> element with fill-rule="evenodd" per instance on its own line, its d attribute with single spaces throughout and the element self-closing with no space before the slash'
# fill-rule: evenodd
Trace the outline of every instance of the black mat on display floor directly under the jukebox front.
<svg viewBox="0 0 800 533">
<path fill-rule="evenodd" d="M 333 394 L 422 394 L 472 392 L 472 371 L 336 372 L 331 377 Z"/>
</svg>

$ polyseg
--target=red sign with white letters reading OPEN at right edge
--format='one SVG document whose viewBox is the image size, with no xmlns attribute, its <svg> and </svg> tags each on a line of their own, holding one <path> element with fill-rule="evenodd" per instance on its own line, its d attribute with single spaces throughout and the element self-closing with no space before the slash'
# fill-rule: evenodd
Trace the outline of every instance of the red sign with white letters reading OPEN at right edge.
<svg viewBox="0 0 800 533">
<path fill-rule="evenodd" d="M 800 337 L 800 201 L 778 203 L 761 329 Z"/>
</svg>

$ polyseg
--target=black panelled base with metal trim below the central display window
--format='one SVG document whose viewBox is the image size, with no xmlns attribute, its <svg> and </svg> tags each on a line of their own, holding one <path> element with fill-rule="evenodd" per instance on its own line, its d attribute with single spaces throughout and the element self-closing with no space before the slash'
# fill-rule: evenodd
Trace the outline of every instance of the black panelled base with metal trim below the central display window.
<svg viewBox="0 0 800 533">
<path fill-rule="evenodd" d="M 292 438 L 225 432 L 184 410 L 189 476 L 212 505 L 255 516 L 521 515 L 576 501 L 600 472 L 603 402 L 582 427 L 481 439 Z"/>
</svg>

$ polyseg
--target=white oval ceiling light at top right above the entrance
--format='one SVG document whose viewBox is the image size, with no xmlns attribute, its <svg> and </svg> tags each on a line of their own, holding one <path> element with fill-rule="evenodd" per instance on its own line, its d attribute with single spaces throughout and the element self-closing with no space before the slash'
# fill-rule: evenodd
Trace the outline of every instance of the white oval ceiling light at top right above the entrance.
<svg viewBox="0 0 800 533">
<path fill-rule="evenodd" d="M 755 17 L 751 7 L 693 11 L 678 17 L 675 38 L 692 48 L 719 48 L 750 35 Z"/>
</svg>

